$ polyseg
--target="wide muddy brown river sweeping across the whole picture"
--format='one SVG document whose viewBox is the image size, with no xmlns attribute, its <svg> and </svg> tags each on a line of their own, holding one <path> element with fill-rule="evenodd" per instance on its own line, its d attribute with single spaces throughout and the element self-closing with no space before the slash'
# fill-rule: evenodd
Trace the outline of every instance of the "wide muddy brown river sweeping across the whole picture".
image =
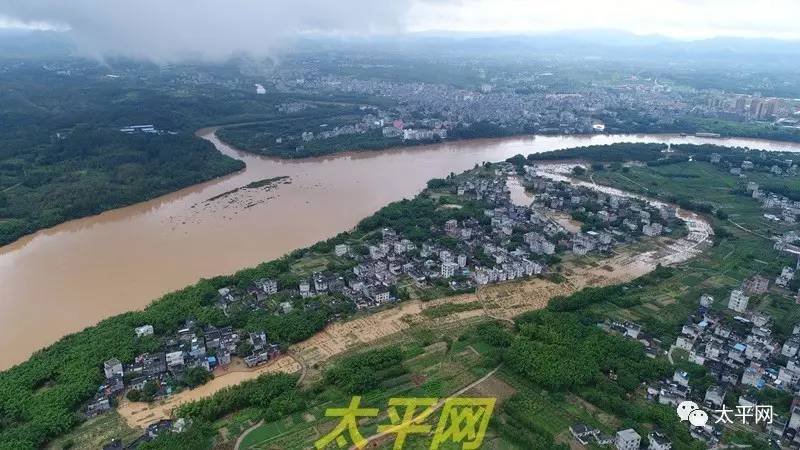
<svg viewBox="0 0 800 450">
<path fill-rule="evenodd" d="M 575 146 L 614 142 L 716 143 L 800 151 L 800 145 L 676 135 L 527 136 L 381 152 L 277 160 L 237 151 L 214 129 L 198 135 L 247 163 L 236 174 L 73 220 L 0 247 L 0 369 L 65 334 L 141 309 L 202 277 L 228 274 L 346 231 L 430 178 Z M 288 176 L 271 189 L 238 190 Z"/>
</svg>

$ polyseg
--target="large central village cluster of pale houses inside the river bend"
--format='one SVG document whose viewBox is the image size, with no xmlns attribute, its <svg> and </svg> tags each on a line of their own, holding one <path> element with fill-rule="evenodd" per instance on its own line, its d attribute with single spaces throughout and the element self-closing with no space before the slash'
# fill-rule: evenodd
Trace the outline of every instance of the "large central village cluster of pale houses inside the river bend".
<svg viewBox="0 0 800 450">
<path fill-rule="evenodd" d="M 397 300 L 394 287 L 401 278 L 420 288 L 444 282 L 454 290 L 467 290 L 541 274 L 552 255 L 560 251 L 579 255 L 608 252 L 617 242 L 630 241 L 635 233 L 657 236 L 669 231 L 662 224 L 676 220 L 676 211 L 670 206 L 653 208 L 643 200 L 536 177 L 526 182 L 545 193 L 537 196 L 533 205 L 518 205 L 507 185 L 514 167 L 496 164 L 486 172 L 459 175 L 448 187 L 459 201 L 484 205 L 480 217 L 447 220 L 432 227 L 430 237 L 424 240 L 412 241 L 401 232 L 384 228 L 363 245 L 337 244 L 334 256 L 351 269 L 315 272 L 297 286 L 279 286 L 276 280 L 263 279 L 247 293 L 223 288 L 219 307 L 226 314 L 234 304 L 261 308 L 265 299 L 280 294 L 284 301 L 277 313 L 290 312 L 295 306 L 292 299 L 319 295 L 343 299 L 357 309 L 374 308 Z M 586 212 L 598 217 L 602 228 L 570 232 L 548 215 L 553 209 Z"/>
</svg>

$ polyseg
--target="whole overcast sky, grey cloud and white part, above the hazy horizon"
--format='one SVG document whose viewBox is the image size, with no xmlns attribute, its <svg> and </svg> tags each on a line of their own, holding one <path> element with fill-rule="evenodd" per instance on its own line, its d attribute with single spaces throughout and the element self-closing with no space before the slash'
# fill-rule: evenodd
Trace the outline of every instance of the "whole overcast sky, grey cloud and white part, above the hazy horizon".
<svg viewBox="0 0 800 450">
<path fill-rule="evenodd" d="M 269 55 L 304 33 L 613 29 L 800 39 L 800 0 L 0 0 L 0 27 L 68 30 L 87 54 Z"/>
</svg>

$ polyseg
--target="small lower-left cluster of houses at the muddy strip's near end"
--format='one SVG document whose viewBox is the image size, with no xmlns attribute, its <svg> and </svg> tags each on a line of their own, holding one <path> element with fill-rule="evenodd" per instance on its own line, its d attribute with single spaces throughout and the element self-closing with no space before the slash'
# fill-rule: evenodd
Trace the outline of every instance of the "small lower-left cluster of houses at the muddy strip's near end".
<svg viewBox="0 0 800 450">
<path fill-rule="evenodd" d="M 135 329 L 136 338 L 153 335 L 152 325 Z M 239 354 L 240 344 L 248 342 L 248 354 Z M 239 356 L 248 367 L 263 364 L 280 356 L 278 344 L 270 343 L 263 331 L 244 333 L 231 327 L 200 327 L 187 321 L 174 335 L 163 339 L 157 352 L 143 353 L 133 361 L 123 364 L 112 358 L 103 364 L 105 381 L 86 407 L 86 415 L 93 417 L 108 411 L 114 398 L 131 389 L 142 391 L 147 383 L 155 386 L 154 397 L 164 397 L 179 385 L 187 370 L 199 368 L 212 372 L 216 367 L 227 367 L 233 356 Z"/>
</svg>

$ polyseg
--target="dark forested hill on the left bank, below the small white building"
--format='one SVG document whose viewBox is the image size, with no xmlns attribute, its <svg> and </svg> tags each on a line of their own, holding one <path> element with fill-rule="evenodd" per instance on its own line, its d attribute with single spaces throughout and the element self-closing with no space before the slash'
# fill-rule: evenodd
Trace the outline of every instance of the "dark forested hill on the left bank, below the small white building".
<svg viewBox="0 0 800 450">
<path fill-rule="evenodd" d="M 48 142 L 0 140 L 0 245 L 242 168 L 187 133 L 80 126 Z"/>
</svg>

